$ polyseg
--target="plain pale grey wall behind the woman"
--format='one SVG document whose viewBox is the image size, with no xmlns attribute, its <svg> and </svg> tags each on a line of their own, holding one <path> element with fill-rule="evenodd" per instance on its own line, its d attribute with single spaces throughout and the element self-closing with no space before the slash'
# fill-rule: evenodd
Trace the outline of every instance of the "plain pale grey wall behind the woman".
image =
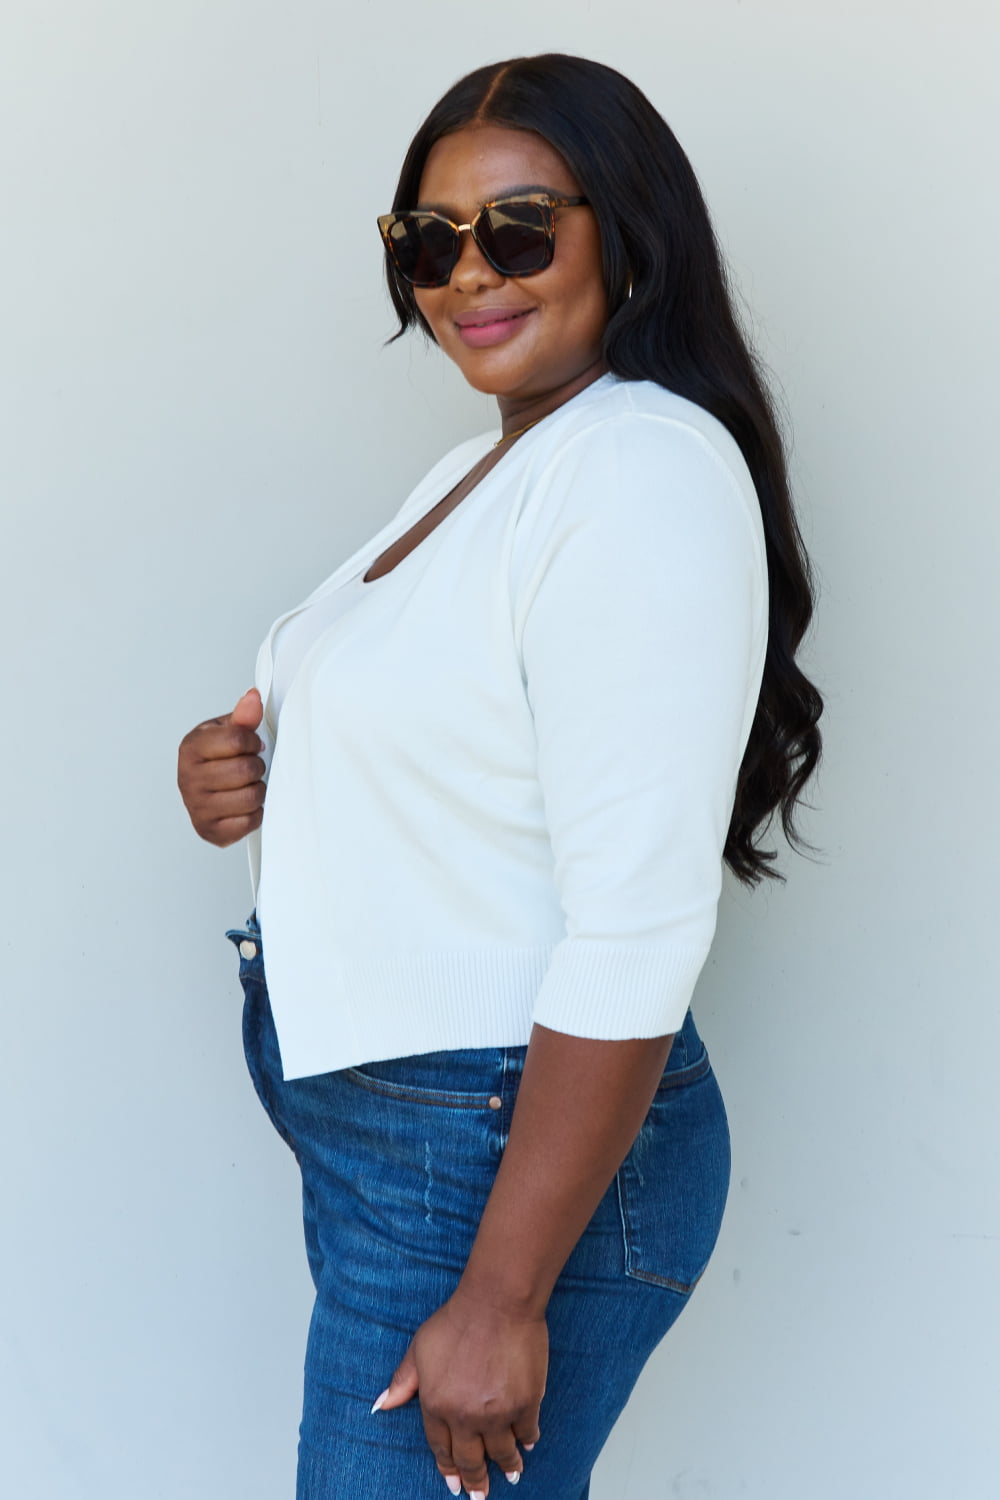
<svg viewBox="0 0 1000 1500">
<path fill-rule="evenodd" d="M 243 850 L 192 836 L 175 746 L 492 424 L 381 346 L 373 219 L 453 78 L 546 48 L 634 76 L 702 178 L 795 429 L 828 698 L 825 861 L 727 890 L 699 988 L 723 1239 L 594 1500 L 996 1492 L 999 30 L 6 0 L 3 1494 L 292 1492 L 297 1182 L 240 1054 Z"/>
</svg>

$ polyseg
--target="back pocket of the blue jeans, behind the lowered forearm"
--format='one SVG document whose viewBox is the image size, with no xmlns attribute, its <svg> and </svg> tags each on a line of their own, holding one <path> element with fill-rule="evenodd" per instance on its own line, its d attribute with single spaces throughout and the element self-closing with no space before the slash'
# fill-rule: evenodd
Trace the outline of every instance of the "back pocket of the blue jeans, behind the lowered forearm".
<svg viewBox="0 0 1000 1500">
<path fill-rule="evenodd" d="M 718 1239 L 729 1174 L 726 1107 L 703 1053 L 664 1074 L 618 1173 L 625 1274 L 693 1292 Z"/>
</svg>

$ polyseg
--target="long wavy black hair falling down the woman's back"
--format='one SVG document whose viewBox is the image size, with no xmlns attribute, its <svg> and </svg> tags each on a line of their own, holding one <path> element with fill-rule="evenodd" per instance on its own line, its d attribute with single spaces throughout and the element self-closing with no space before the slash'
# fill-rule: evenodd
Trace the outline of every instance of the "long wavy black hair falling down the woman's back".
<svg viewBox="0 0 1000 1500">
<path fill-rule="evenodd" d="M 778 874 L 775 850 L 757 844 L 775 813 L 792 846 L 808 848 L 795 810 L 820 758 L 823 699 L 795 662 L 814 591 L 784 444 L 733 309 L 702 190 L 679 141 L 628 78 L 583 57 L 549 52 L 460 78 L 417 130 L 393 208 L 418 202 L 432 146 L 474 122 L 535 130 L 561 153 L 600 226 L 609 369 L 622 380 L 657 381 L 711 411 L 753 476 L 768 548 L 769 633 L 724 858 L 741 880 L 756 885 Z M 412 288 L 388 256 L 385 268 L 399 314 L 396 338 L 414 324 L 429 333 Z"/>
</svg>

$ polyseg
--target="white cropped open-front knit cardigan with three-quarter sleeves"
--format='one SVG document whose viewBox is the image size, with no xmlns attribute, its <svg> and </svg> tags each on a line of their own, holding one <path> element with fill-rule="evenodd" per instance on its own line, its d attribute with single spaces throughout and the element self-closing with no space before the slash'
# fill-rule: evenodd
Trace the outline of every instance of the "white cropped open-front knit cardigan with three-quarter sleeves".
<svg viewBox="0 0 1000 1500">
<path fill-rule="evenodd" d="M 261 646 L 250 862 L 286 1078 L 534 1022 L 664 1035 L 712 940 L 768 634 L 742 454 L 700 406 L 604 375 L 361 585 L 495 436 Z M 282 630 L 324 600 L 274 723 Z"/>
</svg>

